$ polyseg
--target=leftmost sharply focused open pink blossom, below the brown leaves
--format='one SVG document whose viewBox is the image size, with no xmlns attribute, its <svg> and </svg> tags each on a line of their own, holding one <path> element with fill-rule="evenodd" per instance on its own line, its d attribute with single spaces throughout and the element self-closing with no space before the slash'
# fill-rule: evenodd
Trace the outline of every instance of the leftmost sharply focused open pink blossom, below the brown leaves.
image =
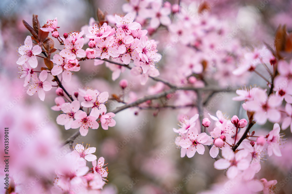
<svg viewBox="0 0 292 194">
<path fill-rule="evenodd" d="M 32 47 L 32 37 L 26 37 L 24 45 L 18 49 L 18 52 L 22 55 L 16 61 L 18 65 L 23 65 L 26 61 L 28 61 L 30 67 L 36 68 L 36 55 L 41 53 L 41 47 L 39 45 L 35 45 L 34 47 Z"/>
</svg>

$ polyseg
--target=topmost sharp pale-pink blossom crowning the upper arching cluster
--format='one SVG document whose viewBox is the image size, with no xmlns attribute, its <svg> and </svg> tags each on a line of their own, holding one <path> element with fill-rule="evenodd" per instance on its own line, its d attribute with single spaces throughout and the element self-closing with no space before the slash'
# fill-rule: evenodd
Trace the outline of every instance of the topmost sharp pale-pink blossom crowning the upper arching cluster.
<svg viewBox="0 0 292 194">
<path fill-rule="evenodd" d="M 137 30 L 141 26 L 141 24 L 139 24 L 138 22 L 133 22 L 134 16 L 132 13 L 128 13 L 123 18 L 118 15 L 115 15 L 114 17 L 116 26 L 123 29 L 127 33 L 130 33 L 131 30 Z"/>
</svg>

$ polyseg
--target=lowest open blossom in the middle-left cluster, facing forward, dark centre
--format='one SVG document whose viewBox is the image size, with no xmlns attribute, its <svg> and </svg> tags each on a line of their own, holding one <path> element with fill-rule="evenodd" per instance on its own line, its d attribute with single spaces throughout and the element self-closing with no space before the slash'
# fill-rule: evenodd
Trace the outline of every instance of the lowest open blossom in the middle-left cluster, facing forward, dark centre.
<svg viewBox="0 0 292 194">
<path fill-rule="evenodd" d="M 80 127 L 79 131 L 82 136 L 86 136 L 88 133 L 88 127 L 91 129 L 97 129 L 99 127 L 96 117 L 87 116 L 86 112 L 82 111 L 81 113 L 75 115 L 76 120 L 71 124 L 72 129 L 77 129 Z"/>
</svg>

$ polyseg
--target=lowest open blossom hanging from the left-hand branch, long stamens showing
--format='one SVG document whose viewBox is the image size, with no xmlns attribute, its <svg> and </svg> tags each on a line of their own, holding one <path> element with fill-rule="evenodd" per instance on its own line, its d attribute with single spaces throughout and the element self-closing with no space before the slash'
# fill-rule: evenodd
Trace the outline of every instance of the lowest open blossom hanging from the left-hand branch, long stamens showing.
<svg viewBox="0 0 292 194">
<path fill-rule="evenodd" d="M 32 74 L 32 84 L 27 89 L 27 94 L 32 96 L 34 93 L 39 93 L 39 98 L 41 101 L 45 99 L 45 92 L 52 89 L 51 83 L 45 81 L 47 79 L 48 73 L 46 70 L 43 70 L 39 76 Z"/>
</svg>

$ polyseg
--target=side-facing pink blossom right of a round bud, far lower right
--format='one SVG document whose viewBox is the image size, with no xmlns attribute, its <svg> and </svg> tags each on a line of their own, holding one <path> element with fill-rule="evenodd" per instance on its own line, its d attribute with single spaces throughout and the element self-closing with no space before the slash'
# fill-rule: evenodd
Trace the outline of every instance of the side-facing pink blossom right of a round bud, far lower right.
<svg viewBox="0 0 292 194">
<path fill-rule="evenodd" d="M 274 124 L 273 130 L 267 136 L 267 144 L 268 144 L 268 155 L 272 156 L 273 153 L 276 156 L 282 156 L 280 151 L 280 145 L 282 143 L 281 136 L 280 136 L 280 126 L 278 123 Z"/>
</svg>

